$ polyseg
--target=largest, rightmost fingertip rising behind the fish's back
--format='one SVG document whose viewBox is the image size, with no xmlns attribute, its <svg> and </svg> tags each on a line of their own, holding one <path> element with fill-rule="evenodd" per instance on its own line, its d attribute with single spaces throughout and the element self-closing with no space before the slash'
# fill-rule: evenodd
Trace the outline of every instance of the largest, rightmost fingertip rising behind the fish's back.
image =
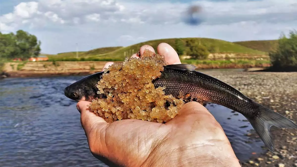
<svg viewBox="0 0 297 167">
<path fill-rule="evenodd" d="M 168 43 L 160 43 L 157 46 L 157 52 L 159 55 L 165 56 L 165 61 L 168 63 L 168 65 L 181 64 L 178 54 Z"/>
</svg>

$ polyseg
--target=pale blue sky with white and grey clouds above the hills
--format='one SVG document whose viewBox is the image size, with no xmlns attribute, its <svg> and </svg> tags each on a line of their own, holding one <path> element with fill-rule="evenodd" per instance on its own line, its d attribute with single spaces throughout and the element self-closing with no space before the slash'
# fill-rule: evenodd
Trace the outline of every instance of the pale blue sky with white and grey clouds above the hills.
<svg viewBox="0 0 297 167">
<path fill-rule="evenodd" d="M 185 21 L 190 6 L 201 23 Z M 161 38 L 278 39 L 297 30 L 296 0 L 0 0 L 0 31 L 19 29 L 42 53 L 128 46 Z"/>
</svg>

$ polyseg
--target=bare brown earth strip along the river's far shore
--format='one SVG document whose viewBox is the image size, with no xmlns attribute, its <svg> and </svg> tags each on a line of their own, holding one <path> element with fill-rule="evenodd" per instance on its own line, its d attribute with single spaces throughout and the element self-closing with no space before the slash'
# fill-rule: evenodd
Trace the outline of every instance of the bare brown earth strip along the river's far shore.
<svg viewBox="0 0 297 167">
<path fill-rule="evenodd" d="M 12 62 L 4 65 L 3 72 L 9 75 L 5 78 L 25 78 L 25 77 L 47 77 L 47 76 L 69 76 L 69 75 L 91 75 L 101 72 L 106 62 Z M 183 63 L 183 62 L 182 62 Z M 185 64 L 185 63 L 183 63 Z M 22 69 L 18 67 L 22 65 Z M 244 69 L 243 71 L 266 70 L 270 64 L 193 64 L 200 70 L 214 69 Z"/>
</svg>

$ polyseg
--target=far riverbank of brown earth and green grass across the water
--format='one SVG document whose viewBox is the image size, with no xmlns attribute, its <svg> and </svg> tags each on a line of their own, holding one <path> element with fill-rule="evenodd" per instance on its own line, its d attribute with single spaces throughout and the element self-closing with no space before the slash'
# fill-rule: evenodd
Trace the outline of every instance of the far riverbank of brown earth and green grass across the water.
<svg viewBox="0 0 297 167">
<path fill-rule="evenodd" d="M 10 77 L 36 77 L 36 76 L 63 76 L 63 75 L 89 75 L 102 70 L 108 61 L 81 61 L 81 62 L 5 62 L 2 70 Z M 260 60 L 184 60 L 182 63 L 193 64 L 198 69 L 264 69 L 270 67 L 267 61 Z"/>
</svg>

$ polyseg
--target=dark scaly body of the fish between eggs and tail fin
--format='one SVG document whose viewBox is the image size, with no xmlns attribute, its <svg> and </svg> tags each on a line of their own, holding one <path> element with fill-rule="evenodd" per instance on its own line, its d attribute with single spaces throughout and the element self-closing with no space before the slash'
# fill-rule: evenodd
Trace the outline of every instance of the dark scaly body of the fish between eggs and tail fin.
<svg viewBox="0 0 297 167">
<path fill-rule="evenodd" d="M 223 105 L 248 117 L 258 115 L 258 105 L 233 87 L 196 71 L 164 68 L 160 78 L 153 81 L 155 87 L 165 86 L 165 94 L 178 97 L 190 94 L 201 102 Z"/>
</svg>

